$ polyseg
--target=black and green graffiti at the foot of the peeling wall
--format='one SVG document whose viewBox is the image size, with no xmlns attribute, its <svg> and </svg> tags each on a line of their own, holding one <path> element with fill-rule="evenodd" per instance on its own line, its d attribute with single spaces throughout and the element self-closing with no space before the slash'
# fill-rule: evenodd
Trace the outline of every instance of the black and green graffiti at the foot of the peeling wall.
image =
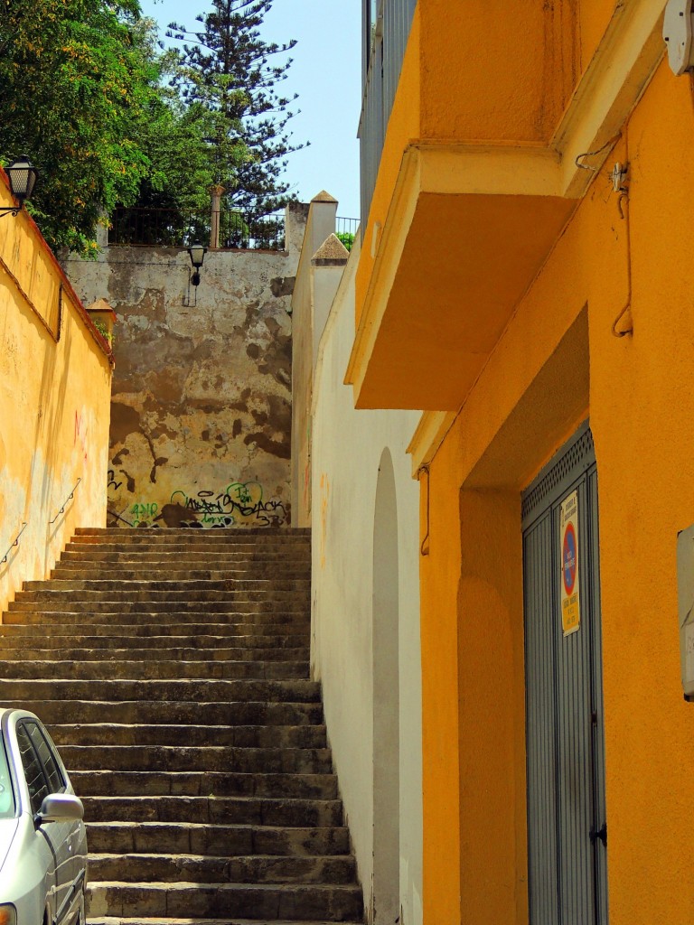
<svg viewBox="0 0 694 925">
<path fill-rule="evenodd" d="M 258 482 L 232 482 L 223 490 L 202 488 L 189 494 L 178 488 L 161 509 L 138 501 L 129 509 L 133 526 L 229 527 L 282 526 L 289 514 L 279 499 L 266 499 Z"/>
</svg>

